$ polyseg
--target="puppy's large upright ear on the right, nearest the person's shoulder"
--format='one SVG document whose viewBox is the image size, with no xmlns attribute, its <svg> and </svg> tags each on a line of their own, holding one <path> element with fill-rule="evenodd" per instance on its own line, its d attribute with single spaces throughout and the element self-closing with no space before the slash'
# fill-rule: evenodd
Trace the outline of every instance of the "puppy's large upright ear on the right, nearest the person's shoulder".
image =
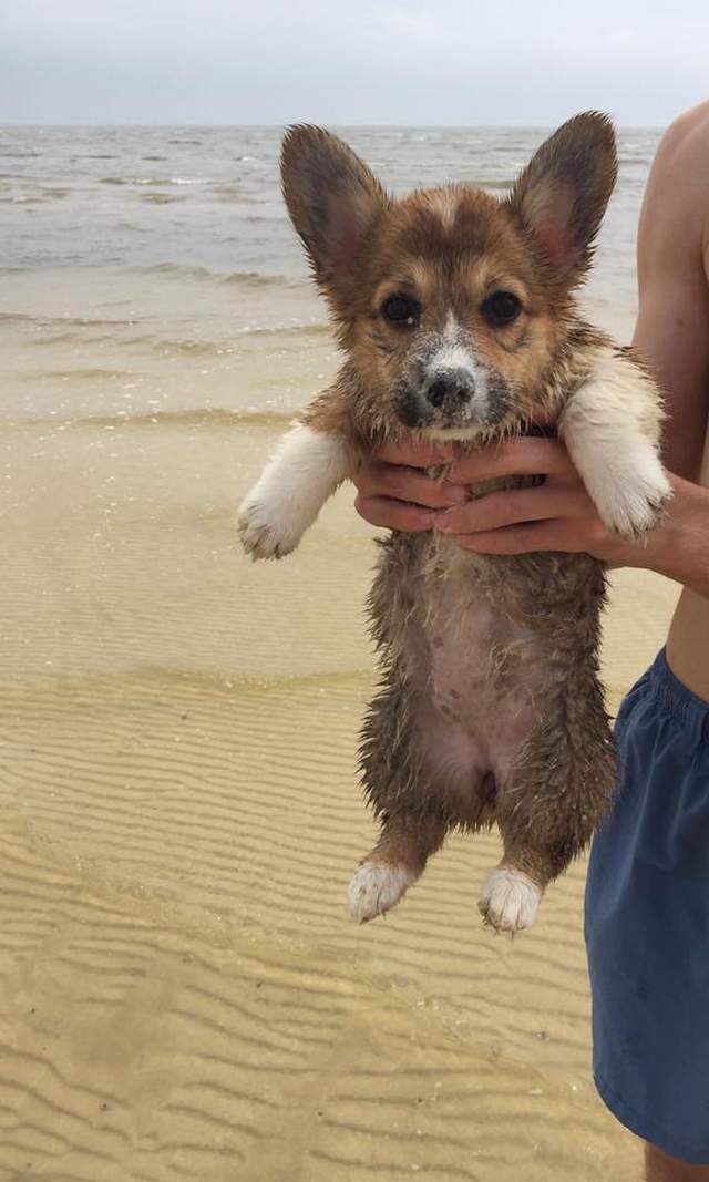
<svg viewBox="0 0 709 1182">
<path fill-rule="evenodd" d="M 541 145 L 508 199 L 554 278 L 568 286 L 581 279 L 591 262 L 617 167 L 611 121 L 587 111 L 562 124 Z"/>
</svg>

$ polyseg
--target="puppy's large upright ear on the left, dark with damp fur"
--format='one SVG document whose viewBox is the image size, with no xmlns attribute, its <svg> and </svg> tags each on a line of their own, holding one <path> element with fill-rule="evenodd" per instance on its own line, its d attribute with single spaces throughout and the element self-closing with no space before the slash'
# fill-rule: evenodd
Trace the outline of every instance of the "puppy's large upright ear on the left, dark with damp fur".
<svg viewBox="0 0 709 1182">
<path fill-rule="evenodd" d="M 389 204 L 377 178 L 337 136 L 321 128 L 290 128 L 281 180 L 291 221 L 316 279 L 337 288 L 351 273 L 367 230 Z"/>
</svg>

